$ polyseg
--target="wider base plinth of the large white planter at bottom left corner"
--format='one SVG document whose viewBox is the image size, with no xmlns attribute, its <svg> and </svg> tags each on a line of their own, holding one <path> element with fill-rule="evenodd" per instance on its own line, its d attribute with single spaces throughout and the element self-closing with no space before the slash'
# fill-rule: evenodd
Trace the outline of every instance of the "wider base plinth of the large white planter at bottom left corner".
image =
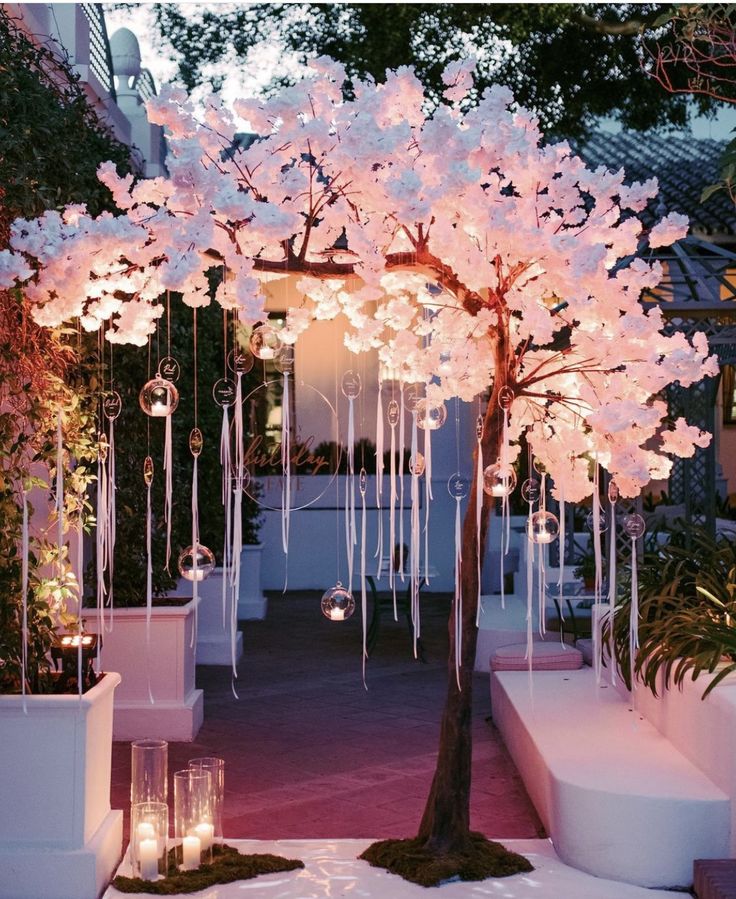
<svg viewBox="0 0 736 899">
<path fill-rule="evenodd" d="M 2 899 L 97 899 L 120 862 L 123 813 L 110 811 L 82 849 L 0 846 Z"/>
</svg>

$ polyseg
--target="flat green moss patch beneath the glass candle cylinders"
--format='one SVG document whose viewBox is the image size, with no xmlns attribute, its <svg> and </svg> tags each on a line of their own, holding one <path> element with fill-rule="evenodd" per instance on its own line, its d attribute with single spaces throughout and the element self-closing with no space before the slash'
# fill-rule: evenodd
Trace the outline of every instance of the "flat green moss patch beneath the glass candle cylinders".
<svg viewBox="0 0 736 899">
<path fill-rule="evenodd" d="M 177 871 L 175 850 L 169 852 L 169 875 L 161 880 L 141 880 L 140 877 L 116 877 L 112 885 L 121 893 L 154 893 L 175 896 L 177 893 L 196 893 L 218 883 L 250 880 L 259 874 L 276 874 L 303 868 L 299 859 L 280 855 L 241 855 L 232 846 L 216 846 L 211 865 L 196 871 Z"/>
</svg>

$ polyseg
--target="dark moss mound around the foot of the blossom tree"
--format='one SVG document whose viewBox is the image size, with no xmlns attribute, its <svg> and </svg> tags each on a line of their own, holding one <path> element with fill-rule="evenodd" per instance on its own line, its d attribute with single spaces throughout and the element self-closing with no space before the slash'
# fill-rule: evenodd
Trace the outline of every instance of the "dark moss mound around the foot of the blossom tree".
<svg viewBox="0 0 736 899">
<path fill-rule="evenodd" d="M 380 840 L 370 845 L 360 858 L 424 887 L 453 879 L 485 880 L 534 870 L 524 856 L 509 852 L 480 833 L 471 833 L 462 850 L 443 855 L 425 848 L 423 841 L 415 837 Z"/>
</svg>

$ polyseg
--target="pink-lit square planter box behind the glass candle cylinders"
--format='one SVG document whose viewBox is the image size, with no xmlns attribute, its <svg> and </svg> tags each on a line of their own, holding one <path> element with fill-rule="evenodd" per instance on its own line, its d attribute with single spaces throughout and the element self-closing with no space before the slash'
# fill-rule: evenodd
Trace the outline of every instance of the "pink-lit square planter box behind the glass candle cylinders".
<svg viewBox="0 0 736 899">
<path fill-rule="evenodd" d="M 115 696 L 115 740 L 191 742 L 197 735 L 204 700 L 194 686 L 194 609 L 191 599 L 181 606 L 154 606 L 150 651 L 145 607 L 115 609 L 112 630 L 106 613 L 102 666 L 122 678 Z M 96 610 L 87 610 L 85 618 L 87 629 L 99 633 Z"/>
</svg>

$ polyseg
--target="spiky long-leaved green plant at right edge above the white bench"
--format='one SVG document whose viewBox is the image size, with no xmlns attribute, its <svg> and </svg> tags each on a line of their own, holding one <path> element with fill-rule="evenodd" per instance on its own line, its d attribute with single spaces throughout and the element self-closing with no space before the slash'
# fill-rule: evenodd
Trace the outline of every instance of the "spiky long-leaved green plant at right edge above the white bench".
<svg viewBox="0 0 736 899">
<path fill-rule="evenodd" d="M 688 675 L 695 680 L 718 670 L 705 698 L 736 671 L 736 543 L 684 524 L 669 537 L 645 553 L 639 568 L 639 650 L 633 673 L 656 696 L 660 671 L 669 688 L 681 686 Z M 629 688 L 630 612 L 631 591 L 625 589 L 613 630 L 616 662 Z M 604 626 L 604 652 L 608 640 Z"/>
</svg>

